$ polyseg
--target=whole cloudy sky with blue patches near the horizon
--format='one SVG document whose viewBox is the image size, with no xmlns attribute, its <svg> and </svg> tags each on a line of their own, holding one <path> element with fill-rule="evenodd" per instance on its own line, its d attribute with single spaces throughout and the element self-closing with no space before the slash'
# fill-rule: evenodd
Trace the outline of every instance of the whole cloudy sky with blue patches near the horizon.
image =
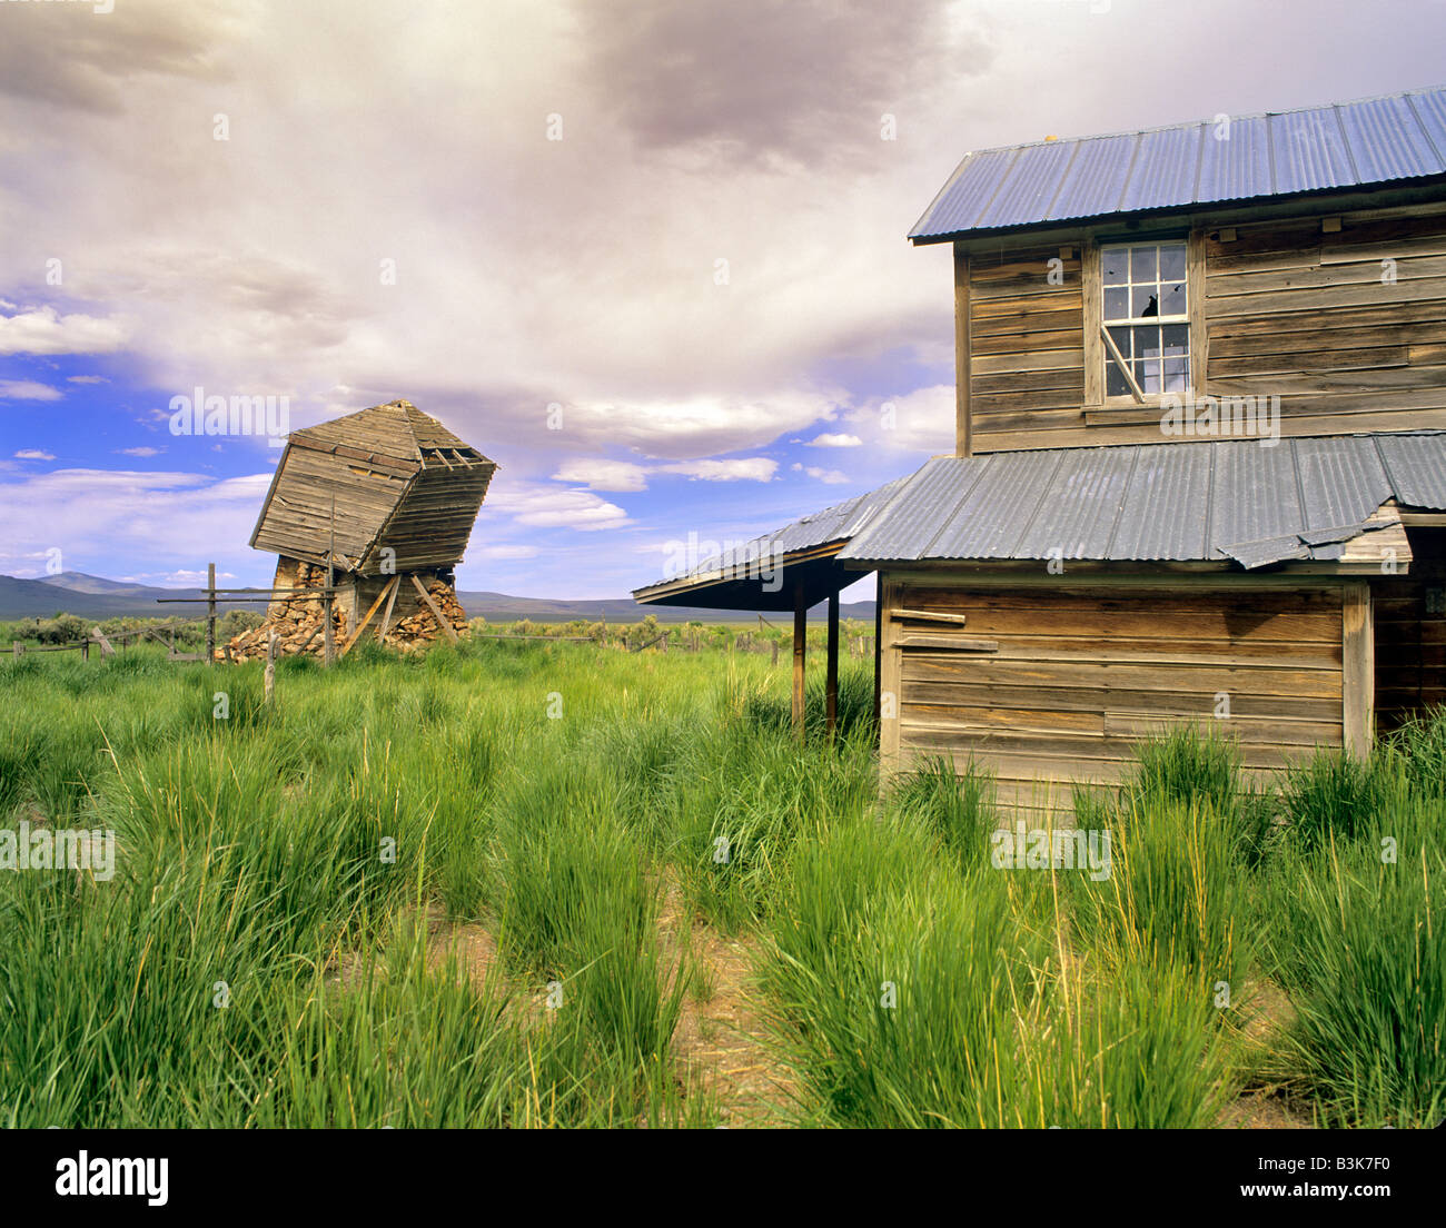
<svg viewBox="0 0 1446 1228">
<path fill-rule="evenodd" d="M 405 396 L 500 464 L 461 587 L 619 596 L 951 447 L 949 257 L 904 236 L 964 152 L 1440 84 L 1443 35 L 1436 0 L 0 4 L 0 573 L 266 583 L 279 448 L 174 435 L 201 386 L 292 427 Z"/>
</svg>

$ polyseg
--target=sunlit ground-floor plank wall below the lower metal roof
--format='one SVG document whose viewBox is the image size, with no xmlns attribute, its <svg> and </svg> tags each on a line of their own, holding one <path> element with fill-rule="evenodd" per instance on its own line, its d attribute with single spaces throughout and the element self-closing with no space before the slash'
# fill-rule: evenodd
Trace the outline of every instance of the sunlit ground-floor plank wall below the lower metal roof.
<svg viewBox="0 0 1446 1228">
<path fill-rule="evenodd" d="M 962 769 L 973 758 L 996 772 L 1002 801 L 1028 804 L 1040 780 L 1116 783 L 1141 736 L 1181 723 L 1238 738 L 1252 769 L 1342 743 L 1339 584 L 885 589 L 889 609 L 964 615 L 970 636 L 999 644 L 995 654 L 886 648 L 884 686 L 898 694 L 888 769 L 940 754 Z M 1054 793 L 1069 804 L 1067 784 Z"/>
</svg>

